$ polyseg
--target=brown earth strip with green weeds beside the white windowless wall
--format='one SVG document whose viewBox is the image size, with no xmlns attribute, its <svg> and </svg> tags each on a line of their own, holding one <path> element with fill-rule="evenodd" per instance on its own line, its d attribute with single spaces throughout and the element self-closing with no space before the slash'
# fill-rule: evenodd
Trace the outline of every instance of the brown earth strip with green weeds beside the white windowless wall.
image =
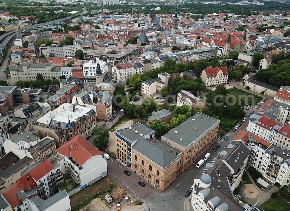
<svg viewBox="0 0 290 211">
<path fill-rule="evenodd" d="M 109 176 L 106 176 L 105 178 L 101 179 L 101 181 L 97 181 L 94 184 L 86 187 L 84 190 L 75 193 L 74 195 L 70 196 L 70 206 L 73 207 L 81 203 L 85 197 L 96 194 L 100 190 L 106 188 L 107 184 L 109 183 L 114 184 L 116 182 Z"/>
</svg>

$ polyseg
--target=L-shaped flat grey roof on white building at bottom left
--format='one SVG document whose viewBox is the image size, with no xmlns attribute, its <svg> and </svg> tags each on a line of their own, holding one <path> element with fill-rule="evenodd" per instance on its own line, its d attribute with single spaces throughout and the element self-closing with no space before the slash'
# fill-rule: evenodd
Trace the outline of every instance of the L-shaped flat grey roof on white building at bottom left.
<svg viewBox="0 0 290 211">
<path fill-rule="evenodd" d="M 61 199 L 65 198 L 68 196 L 68 193 L 66 190 L 61 190 L 57 194 L 53 195 L 52 197 L 49 197 L 46 200 L 43 200 L 39 198 L 38 195 L 32 196 L 29 199 L 35 203 L 36 207 L 39 209 L 39 211 L 46 210 L 53 204 L 55 204 L 57 201 L 60 201 Z"/>
</svg>

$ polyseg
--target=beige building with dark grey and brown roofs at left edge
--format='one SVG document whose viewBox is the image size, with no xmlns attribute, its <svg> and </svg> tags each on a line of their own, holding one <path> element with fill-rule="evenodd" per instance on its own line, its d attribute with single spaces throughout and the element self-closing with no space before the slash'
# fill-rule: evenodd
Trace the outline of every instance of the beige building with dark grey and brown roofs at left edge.
<svg viewBox="0 0 290 211">
<path fill-rule="evenodd" d="M 17 155 L 9 152 L 0 158 L 0 162 L 2 165 L 0 168 L 0 191 L 2 192 L 20 178 L 19 172 L 34 164 L 34 159 L 29 157 L 19 159 Z"/>
</svg>

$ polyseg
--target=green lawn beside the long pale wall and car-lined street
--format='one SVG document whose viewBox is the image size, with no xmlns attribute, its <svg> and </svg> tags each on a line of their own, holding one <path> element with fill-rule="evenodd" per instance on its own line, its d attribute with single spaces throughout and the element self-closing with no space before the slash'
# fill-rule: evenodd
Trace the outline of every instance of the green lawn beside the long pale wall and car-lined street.
<svg viewBox="0 0 290 211">
<path fill-rule="evenodd" d="M 241 99 L 245 100 L 245 104 L 257 105 L 263 98 L 261 96 L 246 92 L 242 89 L 231 88 L 227 89 L 227 96 L 235 96 L 237 102 L 240 102 Z"/>
</svg>

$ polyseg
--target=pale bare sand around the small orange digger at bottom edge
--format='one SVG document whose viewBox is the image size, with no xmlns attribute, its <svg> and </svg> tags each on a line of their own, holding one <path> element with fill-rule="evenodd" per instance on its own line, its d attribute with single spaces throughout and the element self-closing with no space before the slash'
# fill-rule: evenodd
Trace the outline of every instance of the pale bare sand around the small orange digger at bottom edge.
<svg viewBox="0 0 290 211">
<path fill-rule="evenodd" d="M 106 202 L 106 201 L 105 201 Z M 97 198 L 91 201 L 87 206 L 82 208 L 80 211 L 110 211 L 110 210 L 117 210 L 115 202 L 111 202 L 110 206 L 108 204 L 105 204 L 104 201 Z M 107 202 L 106 202 L 107 203 Z M 143 211 L 144 206 L 143 205 L 134 205 L 134 203 L 129 202 L 121 202 L 121 210 L 126 211 Z"/>
</svg>

